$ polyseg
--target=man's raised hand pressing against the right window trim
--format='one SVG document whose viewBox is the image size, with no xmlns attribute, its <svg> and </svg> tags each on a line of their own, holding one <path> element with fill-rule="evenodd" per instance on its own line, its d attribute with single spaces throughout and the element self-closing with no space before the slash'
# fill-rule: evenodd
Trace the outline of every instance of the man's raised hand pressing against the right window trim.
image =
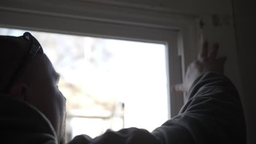
<svg viewBox="0 0 256 144">
<path fill-rule="evenodd" d="M 197 60 L 189 64 L 184 82 L 173 86 L 171 90 L 176 92 L 188 92 L 195 79 L 207 71 L 223 74 L 226 57 L 217 58 L 218 49 L 219 44 L 213 44 L 213 49 L 208 54 L 208 43 L 205 42 L 199 52 Z"/>
</svg>

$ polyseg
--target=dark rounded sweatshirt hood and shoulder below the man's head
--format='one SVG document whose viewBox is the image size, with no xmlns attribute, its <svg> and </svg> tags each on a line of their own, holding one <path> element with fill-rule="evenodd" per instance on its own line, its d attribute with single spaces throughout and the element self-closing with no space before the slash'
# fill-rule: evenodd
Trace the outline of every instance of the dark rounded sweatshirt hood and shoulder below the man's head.
<svg viewBox="0 0 256 144">
<path fill-rule="evenodd" d="M 25 101 L 0 94 L 1 143 L 56 144 L 49 120 Z"/>
</svg>

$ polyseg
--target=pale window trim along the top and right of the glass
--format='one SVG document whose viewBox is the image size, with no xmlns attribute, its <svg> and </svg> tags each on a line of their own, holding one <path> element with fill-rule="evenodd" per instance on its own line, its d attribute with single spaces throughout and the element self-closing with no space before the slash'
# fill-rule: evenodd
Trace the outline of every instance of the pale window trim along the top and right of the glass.
<svg viewBox="0 0 256 144">
<path fill-rule="evenodd" d="M 197 18 L 167 9 L 101 1 L 4 1 L 0 27 L 163 43 L 168 46 L 168 89 L 184 80 L 196 56 Z M 184 104 L 182 93 L 168 92 L 168 117 Z"/>
</svg>

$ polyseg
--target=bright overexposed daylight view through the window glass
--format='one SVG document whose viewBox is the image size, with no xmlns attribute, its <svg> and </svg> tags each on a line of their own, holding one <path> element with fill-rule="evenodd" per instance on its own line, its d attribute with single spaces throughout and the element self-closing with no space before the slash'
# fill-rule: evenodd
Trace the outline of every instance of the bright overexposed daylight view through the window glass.
<svg viewBox="0 0 256 144">
<path fill-rule="evenodd" d="M 24 32 L 0 28 L 1 35 Z M 167 120 L 164 44 L 29 32 L 61 74 L 67 139 L 128 127 L 152 131 Z"/>
</svg>

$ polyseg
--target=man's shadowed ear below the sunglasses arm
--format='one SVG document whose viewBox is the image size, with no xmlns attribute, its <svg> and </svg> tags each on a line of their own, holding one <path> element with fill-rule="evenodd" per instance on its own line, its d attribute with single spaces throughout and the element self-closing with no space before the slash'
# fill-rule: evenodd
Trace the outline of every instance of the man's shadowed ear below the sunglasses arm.
<svg viewBox="0 0 256 144">
<path fill-rule="evenodd" d="M 27 97 L 26 83 L 15 83 L 9 91 L 9 95 L 19 100 L 26 100 L 26 97 Z"/>
</svg>

